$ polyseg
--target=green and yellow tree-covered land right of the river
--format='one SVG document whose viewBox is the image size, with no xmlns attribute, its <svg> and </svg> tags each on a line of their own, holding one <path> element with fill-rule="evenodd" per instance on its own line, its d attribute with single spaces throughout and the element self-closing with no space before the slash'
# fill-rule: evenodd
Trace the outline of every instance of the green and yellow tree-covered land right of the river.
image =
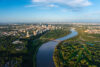
<svg viewBox="0 0 100 67">
<path fill-rule="evenodd" d="M 99 67 L 100 42 L 88 37 L 84 29 L 77 29 L 79 35 L 61 42 L 53 55 L 56 67 Z"/>
</svg>

